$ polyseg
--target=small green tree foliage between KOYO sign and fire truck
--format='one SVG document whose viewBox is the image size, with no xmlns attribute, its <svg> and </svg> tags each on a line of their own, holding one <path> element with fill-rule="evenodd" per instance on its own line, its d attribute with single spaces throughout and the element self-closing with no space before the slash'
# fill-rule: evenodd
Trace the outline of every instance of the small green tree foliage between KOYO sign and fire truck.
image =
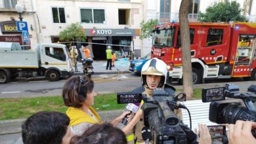
<svg viewBox="0 0 256 144">
<path fill-rule="evenodd" d="M 154 26 L 156 26 L 158 24 L 158 20 L 148 20 L 148 22 L 144 22 L 142 21 L 142 23 L 140 23 L 140 27 L 141 27 L 141 33 L 140 33 L 140 39 L 147 39 L 150 38 L 152 39 L 154 36 L 154 33 L 152 33 L 152 31 L 154 30 Z"/>
</svg>

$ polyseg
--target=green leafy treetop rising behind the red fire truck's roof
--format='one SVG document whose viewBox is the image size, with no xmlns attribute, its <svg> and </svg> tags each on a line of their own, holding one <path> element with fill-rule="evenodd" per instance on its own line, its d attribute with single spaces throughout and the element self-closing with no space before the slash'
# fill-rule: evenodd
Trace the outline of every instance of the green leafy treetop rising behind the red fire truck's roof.
<svg viewBox="0 0 256 144">
<path fill-rule="evenodd" d="M 214 3 L 207 7 L 205 13 L 200 12 L 198 15 L 199 22 L 245 22 L 246 18 L 241 14 L 240 4 L 236 1 L 231 3 Z"/>
</svg>

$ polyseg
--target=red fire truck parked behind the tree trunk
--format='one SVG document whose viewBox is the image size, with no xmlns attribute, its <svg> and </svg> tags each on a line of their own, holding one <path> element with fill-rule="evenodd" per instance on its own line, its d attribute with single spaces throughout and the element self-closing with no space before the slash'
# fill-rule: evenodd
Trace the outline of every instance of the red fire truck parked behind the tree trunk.
<svg viewBox="0 0 256 144">
<path fill-rule="evenodd" d="M 193 84 L 232 77 L 256 80 L 256 23 L 190 23 L 189 27 Z M 155 26 L 153 32 L 151 58 L 167 63 L 171 81 L 182 83 L 179 23 Z"/>
</svg>

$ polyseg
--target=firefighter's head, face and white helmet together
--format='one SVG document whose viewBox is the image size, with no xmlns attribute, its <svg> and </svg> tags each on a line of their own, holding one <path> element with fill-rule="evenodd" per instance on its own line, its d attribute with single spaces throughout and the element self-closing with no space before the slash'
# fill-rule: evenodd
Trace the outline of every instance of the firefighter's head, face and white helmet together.
<svg viewBox="0 0 256 144">
<path fill-rule="evenodd" d="M 147 88 L 154 90 L 161 88 L 166 83 L 167 73 L 167 65 L 158 58 L 153 58 L 143 65 L 141 77 Z"/>
</svg>

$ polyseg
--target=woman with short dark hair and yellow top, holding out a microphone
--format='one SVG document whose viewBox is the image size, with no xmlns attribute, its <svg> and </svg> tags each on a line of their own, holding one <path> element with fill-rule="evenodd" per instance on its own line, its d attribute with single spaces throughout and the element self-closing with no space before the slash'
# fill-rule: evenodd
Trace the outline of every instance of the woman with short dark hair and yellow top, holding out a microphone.
<svg viewBox="0 0 256 144">
<path fill-rule="evenodd" d="M 68 106 L 66 114 L 70 117 L 70 126 L 75 135 L 83 134 L 93 124 L 102 124 L 98 113 L 91 107 L 96 96 L 93 87 L 91 79 L 81 76 L 73 76 L 64 84 L 62 98 Z M 128 113 L 124 112 L 111 123 L 116 126 Z"/>
</svg>

